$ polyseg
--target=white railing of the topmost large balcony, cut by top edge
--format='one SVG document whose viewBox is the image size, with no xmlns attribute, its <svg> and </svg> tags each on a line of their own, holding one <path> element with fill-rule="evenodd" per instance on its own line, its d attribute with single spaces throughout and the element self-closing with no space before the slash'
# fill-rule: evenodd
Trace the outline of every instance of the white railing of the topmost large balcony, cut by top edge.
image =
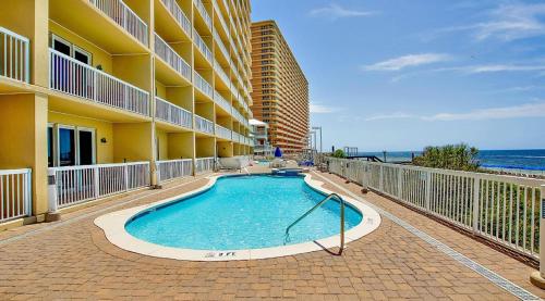
<svg viewBox="0 0 545 301">
<path fill-rule="evenodd" d="M 145 46 L 148 45 L 147 25 L 122 0 L 89 0 L 97 9 L 108 15 Z"/>
</svg>

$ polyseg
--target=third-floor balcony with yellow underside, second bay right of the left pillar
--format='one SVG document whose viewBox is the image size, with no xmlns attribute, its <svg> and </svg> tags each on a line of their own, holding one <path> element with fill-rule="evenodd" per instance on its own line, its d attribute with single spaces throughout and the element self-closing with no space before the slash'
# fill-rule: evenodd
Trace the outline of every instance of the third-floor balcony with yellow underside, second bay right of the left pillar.
<svg viewBox="0 0 545 301">
<path fill-rule="evenodd" d="M 162 65 L 156 72 L 158 79 L 168 85 L 189 86 L 191 84 L 191 66 L 159 35 L 155 34 L 155 53 L 165 64 L 170 66 L 182 78 L 173 77 Z"/>
</svg>

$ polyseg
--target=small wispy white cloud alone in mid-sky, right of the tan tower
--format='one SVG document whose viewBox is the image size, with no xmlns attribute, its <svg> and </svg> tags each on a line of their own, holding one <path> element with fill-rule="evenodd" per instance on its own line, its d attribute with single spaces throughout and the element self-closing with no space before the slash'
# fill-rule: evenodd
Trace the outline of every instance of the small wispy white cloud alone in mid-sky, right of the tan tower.
<svg viewBox="0 0 545 301">
<path fill-rule="evenodd" d="M 362 68 L 364 71 L 400 71 L 405 67 L 446 62 L 450 60 L 452 60 L 452 57 L 445 53 L 408 54 L 372 65 L 362 66 Z"/>
</svg>

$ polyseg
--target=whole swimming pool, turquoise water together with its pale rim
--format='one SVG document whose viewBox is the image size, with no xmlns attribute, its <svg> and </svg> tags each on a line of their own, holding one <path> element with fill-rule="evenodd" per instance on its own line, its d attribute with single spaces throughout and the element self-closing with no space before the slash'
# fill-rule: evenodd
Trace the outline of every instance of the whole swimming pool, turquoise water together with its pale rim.
<svg viewBox="0 0 545 301">
<path fill-rule="evenodd" d="M 102 215 L 95 224 L 116 246 L 153 256 L 181 260 L 247 260 L 337 247 L 340 203 L 324 204 L 290 230 L 286 228 L 322 201 L 322 183 L 274 175 L 211 176 L 203 188 Z M 380 217 L 343 197 L 346 240 L 373 231 Z"/>
</svg>

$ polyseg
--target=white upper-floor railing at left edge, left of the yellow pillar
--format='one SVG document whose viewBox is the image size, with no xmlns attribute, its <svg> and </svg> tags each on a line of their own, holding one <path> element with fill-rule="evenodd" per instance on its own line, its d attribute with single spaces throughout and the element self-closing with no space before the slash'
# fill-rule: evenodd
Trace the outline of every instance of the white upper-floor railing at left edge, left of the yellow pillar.
<svg viewBox="0 0 545 301">
<path fill-rule="evenodd" d="M 0 27 L 0 76 L 29 83 L 29 40 Z"/>
</svg>

